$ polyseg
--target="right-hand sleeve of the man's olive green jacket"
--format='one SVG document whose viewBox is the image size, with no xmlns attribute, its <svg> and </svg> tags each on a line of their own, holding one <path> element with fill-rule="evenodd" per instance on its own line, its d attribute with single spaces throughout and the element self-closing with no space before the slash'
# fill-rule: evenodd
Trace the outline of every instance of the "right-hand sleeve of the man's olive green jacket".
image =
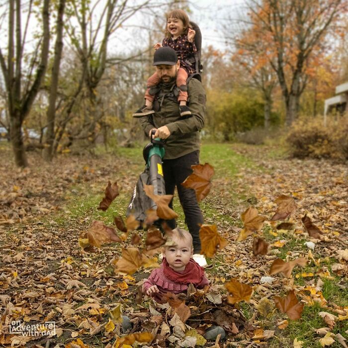
<svg viewBox="0 0 348 348">
<path fill-rule="evenodd" d="M 190 98 L 188 106 L 192 116 L 167 124 L 171 134 L 196 132 L 204 126 L 206 96 L 204 88 L 198 80 L 192 79 L 189 82 L 188 96 Z"/>
</svg>

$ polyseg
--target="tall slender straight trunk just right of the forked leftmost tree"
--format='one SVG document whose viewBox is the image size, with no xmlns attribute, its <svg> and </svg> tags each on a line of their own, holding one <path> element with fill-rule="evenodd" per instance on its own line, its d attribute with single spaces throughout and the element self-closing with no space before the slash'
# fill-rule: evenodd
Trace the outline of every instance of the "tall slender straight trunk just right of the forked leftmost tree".
<svg viewBox="0 0 348 348">
<path fill-rule="evenodd" d="M 43 151 L 43 157 L 47 162 L 53 158 L 53 143 L 55 139 L 54 126 L 56 119 L 56 100 L 59 80 L 59 68 L 63 51 L 63 15 L 66 0 L 60 0 L 57 16 L 57 38 L 54 48 L 54 61 L 52 67 L 52 78 L 50 86 L 49 104 L 47 109 L 47 132 L 46 144 Z"/>
</svg>

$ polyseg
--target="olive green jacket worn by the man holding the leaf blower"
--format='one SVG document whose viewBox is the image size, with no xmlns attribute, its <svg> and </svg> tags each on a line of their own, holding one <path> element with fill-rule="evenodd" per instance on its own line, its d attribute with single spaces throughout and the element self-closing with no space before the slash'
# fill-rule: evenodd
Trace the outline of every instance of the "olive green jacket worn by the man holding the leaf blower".
<svg viewBox="0 0 348 348">
<path fill-rule="evenodd" d="M 159 85 L 164 92 L 170 91 L 175 82 Z M 178 102 L 164 98 L 162 107 L 150 117 L 139 118 L 145 135 L 148 137 L 152 128 L 167 126 L 171 135 L 165 144 L 165 160 L 172 160 L 184 156 L 192 151 L 199 150 L 199 130 L 204 126 L 205 118 L 205 91 L 197 79 L 188 83 L 189 108 L 192 116 L 180 117 Z"/>
</svg>

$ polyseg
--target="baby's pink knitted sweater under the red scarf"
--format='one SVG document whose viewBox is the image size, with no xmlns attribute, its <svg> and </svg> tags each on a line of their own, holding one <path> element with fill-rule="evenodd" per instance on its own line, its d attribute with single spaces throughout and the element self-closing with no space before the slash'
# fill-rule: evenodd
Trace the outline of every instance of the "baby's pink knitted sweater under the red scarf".
<svg viewBox="0 0 348 348">
<path fill-rule="evenodd" d="M 176 273 L 184 274 L 185 270 L 177 271 Z M 150 286 L 157 285 L 158 289 L 160 290 L 160 293 L 173 292 L 174 294 L 179 294 L 181 292 L 185 292 L 190 283 L 192 283 L 190 279 L 187 279 L 187 283 L 178 283 L 174 280 L 169 279 L 164 274 L 164 263 L 162 263 L 160 268 L 155 268 L 151 272 L 149 278 L 145 279 L 143 284 L 143 293 L 146 293 Z M 203 279 L 198 284 L 193 285 L 196 286 L 198 289 L 202 289 L 204 286 L 209 285 L 209 280 L 204 275 Z M 159 299 L 158 294 L 156 295 L 154 296 L 155 300 Z"/>
</svg>

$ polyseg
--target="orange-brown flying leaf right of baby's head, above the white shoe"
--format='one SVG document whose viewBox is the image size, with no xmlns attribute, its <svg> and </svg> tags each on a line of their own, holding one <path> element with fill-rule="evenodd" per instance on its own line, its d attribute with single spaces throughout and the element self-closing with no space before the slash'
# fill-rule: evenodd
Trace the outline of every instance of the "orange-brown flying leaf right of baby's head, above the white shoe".
<svg viewBox="0 0 348 348">
<path fill-rule="evenodd" d="M 201 241 L 201 254 L 208 258 L 213 258 L 217 250 L 224 249 L 228 241 L 222 238 L 217 231 L 216 225 L 202 225 L 199 230 L 199 239 Z"/>
</svg>

